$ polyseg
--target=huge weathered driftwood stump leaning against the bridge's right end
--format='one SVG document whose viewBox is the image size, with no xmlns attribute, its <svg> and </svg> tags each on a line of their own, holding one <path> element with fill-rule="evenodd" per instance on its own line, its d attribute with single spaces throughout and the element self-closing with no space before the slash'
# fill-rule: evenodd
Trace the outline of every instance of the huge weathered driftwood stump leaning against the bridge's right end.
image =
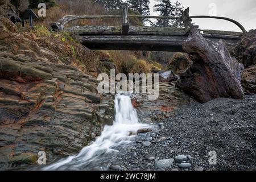
<svg viewBox="0 0 256 182">
<path fill-rule="evenodd" d="M 177 81 L 179 88 L 203 103 L 217 97 L 243 98 L 243 65 L 230 56 L 224 40 L 214 43 L 193 28 L 183 49 L 193 64 Z"/>
</svg>

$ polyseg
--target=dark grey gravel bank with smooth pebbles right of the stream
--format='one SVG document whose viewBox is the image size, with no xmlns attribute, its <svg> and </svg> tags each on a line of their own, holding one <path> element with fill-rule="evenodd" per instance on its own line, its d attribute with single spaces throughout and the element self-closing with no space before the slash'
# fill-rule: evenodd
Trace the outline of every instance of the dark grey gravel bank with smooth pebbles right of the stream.
<svg viewBox="0 0 256 182">
<path fill-rule="evenodd" d="M 255 118 L 256 95 L 181 106 L 173 116 L 153 123 L 155 130 L 138 133 L 110 169 L 255 170 Z M 209 164 L 210 151 L 216 151 L 216 165 Z"/>
</svg>

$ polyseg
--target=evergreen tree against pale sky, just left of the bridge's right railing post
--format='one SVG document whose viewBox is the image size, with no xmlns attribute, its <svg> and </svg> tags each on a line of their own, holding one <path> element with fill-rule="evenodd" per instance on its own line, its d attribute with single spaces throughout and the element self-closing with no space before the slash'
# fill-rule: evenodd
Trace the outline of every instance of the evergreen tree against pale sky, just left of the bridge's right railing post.
<svg viewBox="0 0 256 182">
<path fill-rule="evenodd" d="M 181 16 L 181 10 L 183 6 L 181 3 L 176 1 L 174 5 L 170 0 L 157 0 L 153 8 L 154 11 L 158 11 L 160 16 Z M 156 27 L 182 27 L 183 23 L 180 20 L 171 20 L 171 19 L 156 19 L 155 23 L 152 23 L 152 26 Z"/>
</svg>

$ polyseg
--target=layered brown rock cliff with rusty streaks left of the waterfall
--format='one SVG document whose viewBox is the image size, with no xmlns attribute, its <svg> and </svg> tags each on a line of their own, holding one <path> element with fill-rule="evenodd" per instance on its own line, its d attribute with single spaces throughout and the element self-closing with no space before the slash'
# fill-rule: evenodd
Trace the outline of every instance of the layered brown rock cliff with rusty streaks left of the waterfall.
<svg viewBox="0 0 256 182">
<path fill-rule="evenodd" d="M 0 169 L 77 154 L 113 121 L 113 97 L 96 78 L 0 23 Z"/>
</svg>

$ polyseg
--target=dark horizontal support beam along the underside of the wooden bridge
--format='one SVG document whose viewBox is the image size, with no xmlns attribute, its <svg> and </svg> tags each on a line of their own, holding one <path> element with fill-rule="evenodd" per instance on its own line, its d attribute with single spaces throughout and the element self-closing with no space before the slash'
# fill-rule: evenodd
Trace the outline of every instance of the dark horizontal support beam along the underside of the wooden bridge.
<svg viewBox="0 0 256 182">
<path fill-rule="evenodd" d="M 226 40 L 228 46 L 233 46 L 240 40 L 233 36 L 203 35 L 205 38 L 218 42 Z M 89 49 L 138 50 L 138 51 L 170 51 L 184 52 L 185 35 L 80 35 L 80 42 Z"/>
</svg>

